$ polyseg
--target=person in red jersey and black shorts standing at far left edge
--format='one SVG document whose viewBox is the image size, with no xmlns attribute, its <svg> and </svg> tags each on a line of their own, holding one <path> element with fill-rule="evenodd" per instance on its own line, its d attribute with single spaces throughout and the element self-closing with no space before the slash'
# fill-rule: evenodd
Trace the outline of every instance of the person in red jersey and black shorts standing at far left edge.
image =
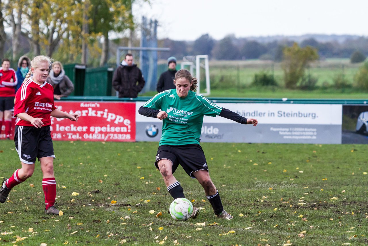
<svg viewBox="0 0 368 246">
<path fill-rule="evenodd" d="M 11 114 L 14 108 L 14 88 L 18 79 L 14 69 L 10 68 L 10 60 L 3 59 L 0 67 L 0 133 L 5 125 L 5 137 L 10 139 Z M 4 118 L 4 121 L 3 121 Z"/>
</svg>

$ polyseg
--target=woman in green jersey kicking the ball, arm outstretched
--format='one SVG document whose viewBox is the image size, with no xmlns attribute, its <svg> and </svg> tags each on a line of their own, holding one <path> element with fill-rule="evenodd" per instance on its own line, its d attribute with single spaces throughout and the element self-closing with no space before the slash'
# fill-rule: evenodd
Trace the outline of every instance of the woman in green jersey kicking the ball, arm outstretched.
<svg viewBox="0 0 368 246">
<path fill-rule="evenodd" d="M 155 166 L 160 170 L 170 195 L 176 199 L 185 197 L 183 188 L 173 176 L 180 164 L 185 172 L 197 179 L 204 188 L 214 213 L 219 218 L 230 220 L 233 216 L 223 208 L 219 192 L 209 176 L 206 157 L 199 145 L 203 116 L 220 115 L 240 124 L 253 126 L 256 126 L 258 121 L 241 117 L 195 93 L 197 79 L 193 78 L 188 70 L 179 70 L 175 74 L 174 84 L 176 89 L 162 91 L 143 104 L 138 111 L 141 115 L 163 121 Z M 195 218 L 197 214 L 198 209 L 194 208 L 192 217 Z"/>
</svg>

